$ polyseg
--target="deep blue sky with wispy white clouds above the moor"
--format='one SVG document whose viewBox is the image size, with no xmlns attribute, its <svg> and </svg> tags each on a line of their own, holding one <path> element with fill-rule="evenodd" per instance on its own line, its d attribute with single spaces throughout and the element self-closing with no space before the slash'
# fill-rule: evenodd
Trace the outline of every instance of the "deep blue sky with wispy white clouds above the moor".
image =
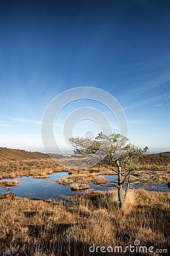
<svg viewBox="0 0 170 256">
<path fill-rule="evenodd" d="M 169 27 L 168 0 L 1 0 L 0 146 L 43 152 L 41 119 L 49 102 L 67 89 L 94 86 L 120 102 L 131 142 L 169 151 Z M 56 119 L 61 146 L 59 125 L 88 105 L 70 105 Z M 117 132 L 116 119 L 94 106 Z M 81 122 L 75 136 L 99 130 Z"/>
</svg>

